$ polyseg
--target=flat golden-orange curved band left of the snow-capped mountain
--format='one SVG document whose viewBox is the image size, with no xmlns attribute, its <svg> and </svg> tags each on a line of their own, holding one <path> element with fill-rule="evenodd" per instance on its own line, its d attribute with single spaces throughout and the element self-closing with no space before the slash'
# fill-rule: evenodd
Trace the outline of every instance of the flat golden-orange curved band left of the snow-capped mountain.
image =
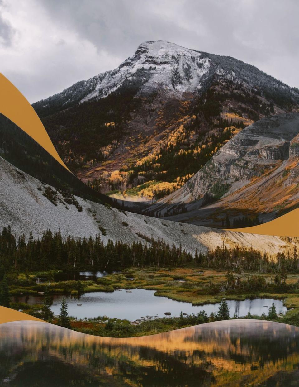
<svg viewBox="0 0 299 387">
<path fill-rule="evenodd" d="M 0 73 L 0 113 L 24 130 L 65 168 L 59 154 L 31 104 L 23 94 Z M 68 170 L 68 168 L 67 168 Z"/>
</svg>

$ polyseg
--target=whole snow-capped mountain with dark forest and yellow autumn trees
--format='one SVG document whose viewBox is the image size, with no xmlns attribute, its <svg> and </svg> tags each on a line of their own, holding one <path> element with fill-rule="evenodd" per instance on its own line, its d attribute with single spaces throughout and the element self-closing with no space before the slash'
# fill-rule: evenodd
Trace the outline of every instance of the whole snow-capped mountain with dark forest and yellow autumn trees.
<svg viewBox="0 0 299 387">
<path fill-rule="evenodd" d="M 152 204 L 243 128 L 299 111 L 299 90 L 232 57 L 149 41 L 116 69 L 33 107 L 83 182 Z"/>
</svg>

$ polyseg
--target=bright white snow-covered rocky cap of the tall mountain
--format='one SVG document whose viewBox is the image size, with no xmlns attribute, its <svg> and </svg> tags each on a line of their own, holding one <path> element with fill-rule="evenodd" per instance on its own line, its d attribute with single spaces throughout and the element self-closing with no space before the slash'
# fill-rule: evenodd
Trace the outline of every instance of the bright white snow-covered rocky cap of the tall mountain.
<svg viewBox="0 0 299 387">
<path fill-rule="evenodd" d="M 81 102 L 103 98 L 132 82 L 140 84 L 143 91 L 159 85 L 169 92 L 193 92 L 201 88 L 201 80 L 209 68 L 209 59 L 197 51 L 164 40 L 144 42 L 118 68 L 94 77 L 97 78 L 94 90 Z"/>
</svg>

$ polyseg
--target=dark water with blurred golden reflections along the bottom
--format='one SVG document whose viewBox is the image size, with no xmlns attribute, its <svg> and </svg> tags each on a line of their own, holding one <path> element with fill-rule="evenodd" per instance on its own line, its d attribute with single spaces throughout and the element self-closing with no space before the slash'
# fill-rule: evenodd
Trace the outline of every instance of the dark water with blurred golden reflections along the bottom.
<svg viewBox="0 0 299 387">
<path fill-rule="evenodd" d="M 228 320 L 108 338 L 43 322 L 0 325 L 1 386 L 296 386 L 299 328 Z"/>
</svg>

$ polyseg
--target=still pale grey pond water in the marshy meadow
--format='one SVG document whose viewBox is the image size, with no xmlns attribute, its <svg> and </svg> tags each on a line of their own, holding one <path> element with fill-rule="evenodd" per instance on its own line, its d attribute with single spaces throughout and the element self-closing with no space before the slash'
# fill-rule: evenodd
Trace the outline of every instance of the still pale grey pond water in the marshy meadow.
<svg viewBox="0 0 299 387">
<path fill-rule="evenodd" d="M 68 304 L 68 313 L 79 319 L 84 317 L 92 318 L 106 315 L 111 318 L 128 319 L 130 321 L 140 319 L 142 316 L 158 315 L 164 316 L 165 312 L 171 312 L 172 316 L 179 316 L 183 313 L 198 313 L 200 310 L 210 315 L 211 312 L 217 312 L 219 304 L 207 304 L 203 306 L 193 306 L 191 303 L 174 301 L 166 297 L 156 297 L 154 290 L 132 289 L 132 293 L 122 291 L 114 291 L 113 293 L 94 292 L 85 293 L 78 301 L 71 296 L 65 297 Z M 60 304 L 62 295 L 55 295 L 51 310 L 54 314 L 60 313 Z M 30 304 L 42 303 L 43 297 L 40 296 L 22 296 L 15 300 L 27 302 Z M 77 306 L 81 303 L 81 306 Z M 238 317 L 247 315 L 248 312 L 255 315 L 261 315 L 263 312 L 268 314 L 268 310 L 272 303 L 275 304 L 277 313 L 285 313 L 287 308 L 284 307 L 282 301 L 273 299 L 257 298 L 255 300 L 231 301 L 228 300 L 231 317 L 236 313 Z"/>
</svg>

